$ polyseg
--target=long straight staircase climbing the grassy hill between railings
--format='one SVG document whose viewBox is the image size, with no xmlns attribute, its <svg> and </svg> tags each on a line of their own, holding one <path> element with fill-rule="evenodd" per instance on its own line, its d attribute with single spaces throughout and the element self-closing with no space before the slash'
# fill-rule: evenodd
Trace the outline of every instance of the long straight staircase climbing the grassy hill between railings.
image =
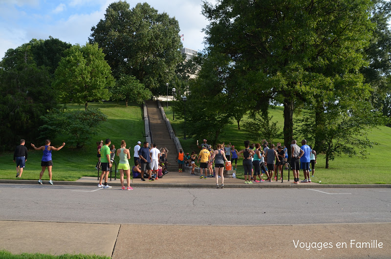
<svg viewBox="0 0 391 259">
<path fill-rule="evenodd" d="M 152 132 L 152 142 L 156 144 L 157 149 L 164 147 L 168 149 L 167 160 L 168 163 L 170 163 L 168 171 L 176 172 L 178 171 L 176 147 L 174 141 L 170 138 L 170 134 L 157 106 L 157 102 L 147 101 L 147 109 Z"/>
</svg>

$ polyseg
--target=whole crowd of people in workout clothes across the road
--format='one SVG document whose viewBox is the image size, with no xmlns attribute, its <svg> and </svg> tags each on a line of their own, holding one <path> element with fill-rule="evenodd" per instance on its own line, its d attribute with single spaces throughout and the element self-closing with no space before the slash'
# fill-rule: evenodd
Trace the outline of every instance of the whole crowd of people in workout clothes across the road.
<svg viewBox="0 0 391 259">
<path fill-rule="evenodd" d="M 130 173 L 133 178 L 140 178 L 141 181 L 145 181 L 148 178 L 149 181 L 158 180 L 159 177 L 163 177 L 168 173 L 167 170 L 167 156 L 168 150 L 166 148 L 157 149 L 156 144 L 152 144 L 149 147 L 149 142 L 145 141 L 143 146 L 138 141 L 133 148 L 134 166 L 130 170 L 130 150 L 126 148 L 125 140 L 121 141 L 121 148 L 116 150 L 114 145 L 111 145 L 111 140 L 106 139 L 105 144 L 103 140 L 98 141 L 97 144 L 97 157 L 98 162 L 96 169 L 101 168 L 102 173 L 99 178 L 98 187 L 111 188 L 108 185 L 108 175 L 114 161 L 115 154 L 119 156 L 118 169 L 120 172 L 120 181 L 122 190 L 132 190 L 130 187 Z M 38 180 L 39 184 L 42 184 L 42 176 L 46 168 L 49 174 L 49 184 L 53 184 L 52 181 L 52 151 L 59 151 L 64 146 L 56 148 L 50 145 L 50 140 L 45 141 L 45 145 L 37 148 L 31 143 L 31 147 L 35 150 L 42 150 L 43 157 L 41 161 L 41 173 Z M 195 161 L 200 162 L 200 179 L 206 179 L 207 177 L 216 177 L 216 188 L 224 188 L 224 163 L 231 161 L 232 167 L 235 163 L 234 170 L 237 170 L 238 157 L 243 158 L 243 170 L 244 170 L 244 183 L 252 184 L 254 182 L 265 181 L 263 174 L 266 175 L 266 181 L 272 182 L 273 179 L 277 181 L 278 175 L 282 173 L 282 167 L 288 169 L 290 165 L 293 176 L 294 184 L 299 182 L 307 183 L 311 182 L 309 173 L 312 172 L 312 176 L 315 173 L 316 151 L 312 150 L 311 146 L 307 145 L 305 139 L 302 140 L 302 146 L 297 145 L 296 140 L 292 140 L 291 159 L 288 164 L 288 149 L 281 143 L 277 143 L 277 146 L 270 144 L 266 140 L 262 140 L 262 144 L 253 143 L 250 141 L 244 141 L 244 149 L 236 150 L 235 146 L 229 143 L 217 144 L 216 150 L 207 144 L 207 140 L 204 139 L 203 143 L 199 145 L 197 140 L 197 147 L 200 149 L 197 154 L 192 151 L 191 154 L 185 153 L 182 149 L 179 150 L 176 159 L 178 162 L 178 171 L 183 172 L 184 166 L 192 167 L 191 175 L 195 175 L 195 168 L 197 167 Z M 27 148 L 24 146 L 25 140 L 21 140 L 20 145 L 16 147 L 14 152 L 13 161 L 16 163 L 16 177 L 21 177 L 25 162 L 27 161 Z M 262 149 L 263 148 L 263 149 Z M 213 171 L 213 163 L 215 163 L 215 171 Z M 303 170 L 304 180 L 300 181 L 299 171 Z M 204 174 L 205 173 L 205 174 Z M 209 176 L 208 176 L 209 173 Z M 273 176 L 274 173 L 274 176 Z M 124 175 L 127 176 L 127 186 L 124 185 Z M 258 179 L 257 179 L 258 177 Z M 221 178 L 221 185 L 218 183 L 218 179 Z M 281 176 L 280 176 L 281 179 Z"/>
</svg>

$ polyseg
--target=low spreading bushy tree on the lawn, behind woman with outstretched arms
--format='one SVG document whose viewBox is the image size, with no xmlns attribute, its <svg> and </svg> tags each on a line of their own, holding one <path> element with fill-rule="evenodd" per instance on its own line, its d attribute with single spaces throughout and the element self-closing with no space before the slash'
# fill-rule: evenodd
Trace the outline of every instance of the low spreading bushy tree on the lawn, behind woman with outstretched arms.
<svg viewBox="0 0 391 259">
<path fill-rule="evenodd" d="M 107 116 L 97 108 L 87 110 L 56 110 L 42 116 L 43 126 L 39 128 L 41 138 L 54 138 L 58 134 L 67 135 L 66 143 L 82 148 L 87 140 L 98 133 L 98 126 L 107 121 Z"/>
</svg>

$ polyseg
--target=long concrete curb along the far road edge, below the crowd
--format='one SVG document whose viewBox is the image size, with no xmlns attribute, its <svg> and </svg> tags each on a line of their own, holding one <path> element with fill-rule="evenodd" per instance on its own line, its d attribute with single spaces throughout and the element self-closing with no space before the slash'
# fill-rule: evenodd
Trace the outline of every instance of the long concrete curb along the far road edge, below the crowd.
<svg viewBox="0 0 391 259">
<path fill-rule="evenodd" d="M 0 184 L 33 184 L 36 185 L 36 180 L 9 180 L 0 179 Z M 47 181 L 43 181 L 43 185 L 47 185 Z M 54 185 L 71 185 L 71 186 L 96 186 L 96 182 L 73 182 L 73 181 L 55 181 Z M 109 184 L 113 187 L 121 187 L 120 183 Z M 215 183 L 131 183 L 131 187 L 144 188 L 216 188 Z M 308 189 L 308 188 L 391 188 L 391 184 L 298 184 L 293 185 L 285 183 L 273 184 L 227 184 L 225 188 L 285 188 L 285 189 Z"/>
</svg>

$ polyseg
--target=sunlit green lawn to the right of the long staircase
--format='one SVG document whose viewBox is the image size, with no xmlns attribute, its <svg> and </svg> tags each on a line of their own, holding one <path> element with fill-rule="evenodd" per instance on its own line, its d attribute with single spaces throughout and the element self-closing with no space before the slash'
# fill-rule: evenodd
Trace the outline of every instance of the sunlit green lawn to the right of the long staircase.
<svg viewBox="0 0 391 259">
<path fill-rule="evenodd" d="M 162 102 L 162 106 L 163 103 Z M 172 121 L 173 113 L 171 107 L 168 110 L 165 108 L 167 117 L 173 125 L 176 136 L 179 138 L 182 147 L 185 152 L 196 151 L 198 148 L 195 145 L 196 139 L 191 139 L 187 135 L 187 139 L 183 139 L 183 120 Z M 274 121 L 278 121 L 278 126 L 283 128 L 283 108 L 275 107 L 269 109 L 269 114 L 273 116 Z M 294 118 L 299 115 L 294 114 Z M 297 117 L 296 117 L 297 118 Z M 242 121 L 247 120 L 247 116 L 244 116 Z M 336 157 L 334 161 L 330 161 L 329 169 L 325 169 L 326 160 L 325 155 L 318 154 L 317 163 L 315 165 L 315 174 L 312 178 L 313 182 L 321 182 L 322 184 L 391 184 L 391 174 L 389 173 L 390 157 L 391 157 L 391 128 L 379 127 L 379 129 L 373 129 L 369 132 L 368 137 L 370 140 L 379 143 L 369 149 L 368 159 L 361 159 L 358 157 L 350 158 L 347 155 Z M 250 134 L 241 127 L 238 129 L 238 124 L 234 120 L 233 124 L 225 127 L 224 133 L 219 137 L 219 142 L 225 143 L 231 142 L 235 145 L 235 148 L 240 151 L 244 148 L 243 141 L 252 139 Z M 283 139 L 275 139 L 274 143 L 282 142 Z M 200 142 L 202 142 L 200 140 Z M 311 143 L 309 143 L 311 144 Z M 242 160 L 238 161 L 238 173 L 239 178 L 243 178 Z M 303 179 L 303 171 L 300 172 L 301 179 Z M 265 177 L 264 177 L 265 178 Z M 284 179 L 287 179 L 287 171 L 284 171 Z M 290 175 L 292 179 L 292 173 Z"/>
</svg>

